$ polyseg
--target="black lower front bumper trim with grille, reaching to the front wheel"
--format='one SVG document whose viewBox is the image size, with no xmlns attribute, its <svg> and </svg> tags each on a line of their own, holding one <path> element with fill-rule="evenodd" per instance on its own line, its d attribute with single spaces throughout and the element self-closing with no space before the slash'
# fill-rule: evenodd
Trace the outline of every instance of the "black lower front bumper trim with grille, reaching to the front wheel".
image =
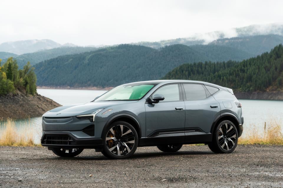
<svg viewBox="0 0 283 188">
<path fill-rule="evenodd" d="M 103 144 L 101 138 L 78 139 L 69 132 L 45 132 L 41 145 L 52 148 L 98 148 Z"/>
</svg>

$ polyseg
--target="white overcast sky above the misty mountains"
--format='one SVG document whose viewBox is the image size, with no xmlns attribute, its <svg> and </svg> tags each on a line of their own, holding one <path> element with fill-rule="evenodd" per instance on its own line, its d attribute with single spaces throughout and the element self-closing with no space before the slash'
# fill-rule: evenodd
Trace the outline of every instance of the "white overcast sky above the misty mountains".
<svg viewBox="0 0 283 188">
<path fill-rule="evenodd" d="M 0 1 L 0 43 L 111 45 L 283 21 L 283 1 Z"/>
</svg>

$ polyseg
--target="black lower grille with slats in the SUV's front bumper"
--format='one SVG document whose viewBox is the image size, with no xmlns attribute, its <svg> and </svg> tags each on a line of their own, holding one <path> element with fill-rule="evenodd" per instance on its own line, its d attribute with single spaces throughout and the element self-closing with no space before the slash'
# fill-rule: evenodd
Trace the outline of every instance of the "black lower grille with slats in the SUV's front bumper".
<svg viewBox="0 0 283 188">
<path fill-rule="evenodd" d="M 48 145 L 76 145 L 77 143 L 69 135 L 45 135 L 42 144 Z"/>
</svg>

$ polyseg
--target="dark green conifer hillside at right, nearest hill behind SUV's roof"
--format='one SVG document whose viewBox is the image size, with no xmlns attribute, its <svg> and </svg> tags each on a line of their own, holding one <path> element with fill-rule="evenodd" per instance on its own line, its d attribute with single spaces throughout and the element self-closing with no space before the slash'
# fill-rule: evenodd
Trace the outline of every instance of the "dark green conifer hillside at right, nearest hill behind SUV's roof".
<svg viewBox="0 0 283 188">
<path fill-rule="evenodd" d="M 283 88 L 283 46 L 240 63 L 186 63 L 162 79 L 201 80 L 236 91 L 266 91 Z"/>
</svg>

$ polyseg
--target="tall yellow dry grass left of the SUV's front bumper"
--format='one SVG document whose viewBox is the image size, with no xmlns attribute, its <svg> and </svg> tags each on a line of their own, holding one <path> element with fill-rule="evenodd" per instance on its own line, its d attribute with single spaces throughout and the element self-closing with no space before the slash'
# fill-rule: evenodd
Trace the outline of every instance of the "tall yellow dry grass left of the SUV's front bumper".
<svg viewBox="0 0 283 188">
<path fill-rule="evenodd" d="M 0 145 L 34 146 L 33 127 L 30 121 L 16 127 L 14 120 L 0 120 Z"/>
</svg>

